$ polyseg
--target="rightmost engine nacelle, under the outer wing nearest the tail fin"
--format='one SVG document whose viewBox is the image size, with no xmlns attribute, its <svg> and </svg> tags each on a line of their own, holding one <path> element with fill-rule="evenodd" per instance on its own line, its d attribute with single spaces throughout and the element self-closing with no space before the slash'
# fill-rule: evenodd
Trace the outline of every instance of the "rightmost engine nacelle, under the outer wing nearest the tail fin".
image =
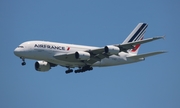
<svg viewBox="0 0 180 108">
<path fill-rule="evenodd" d="M 120 49 L 116 46 L 105 46 L 104 52 L 109 54 L 118 54 L 120 52 Z"/>
</svg>

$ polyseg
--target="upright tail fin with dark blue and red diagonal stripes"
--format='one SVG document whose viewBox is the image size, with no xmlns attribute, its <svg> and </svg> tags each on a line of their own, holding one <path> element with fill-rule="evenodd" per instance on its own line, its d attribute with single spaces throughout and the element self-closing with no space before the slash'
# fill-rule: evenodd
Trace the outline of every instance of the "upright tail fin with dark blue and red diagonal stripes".
<svg viewBox="0 0 180 108">
<path fill-rule="evenodd" d="M 129 42 L 135 42 L 142 40 L 144 38 L 144 33 L 148 25 L 146 23 L 139 23 L 134 30 L 129 34 L 129 36 L 124 40 L 123 44 Z M 140 44 L 134 46 L 134 49 L 128 50 L 128 53 L 137 54 L 140 48 Z"/>
</svg>

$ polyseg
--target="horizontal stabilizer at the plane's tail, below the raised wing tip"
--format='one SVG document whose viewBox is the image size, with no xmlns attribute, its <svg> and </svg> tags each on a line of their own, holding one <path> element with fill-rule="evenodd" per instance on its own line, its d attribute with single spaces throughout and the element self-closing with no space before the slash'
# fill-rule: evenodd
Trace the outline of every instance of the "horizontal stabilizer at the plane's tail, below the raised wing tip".
<svg viewBox="0 0 180 108">
<path fill-rule="evenodd" d="M 166 51 L 157 51 L 157 52 L 151 52 L 151 53 L 146 53 L 146 54 L 134 55 L 134 56 L 129 56 L 127 58 L 140 59 L 140 58 L 154 56 L 154 55 L 161 54 L 161 53 L 166 53 Z"/>
</svg>

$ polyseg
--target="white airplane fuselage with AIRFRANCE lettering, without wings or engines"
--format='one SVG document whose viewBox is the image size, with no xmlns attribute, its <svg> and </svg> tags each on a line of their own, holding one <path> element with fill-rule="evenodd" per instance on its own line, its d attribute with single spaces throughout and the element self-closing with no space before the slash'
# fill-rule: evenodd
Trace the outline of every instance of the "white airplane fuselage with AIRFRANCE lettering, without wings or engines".
<svg viewBox="0 0 180 108">
<path fill-rule="evenodd" d="M 61 66 L 79 67 L 83 66 L 83 62 L 68 62 L 61 61 L 54 58 L 56 54 L 68 54 L 76 51 L 87 51 L 97 49 L 99 47 L 82 46 L 74 44 L 56 43 L 48 41 L 27 41 L 19 45 L 14 53 L 18 57 L 23 57 L 33 60 L 44 60 L 50 63 L 58 64 Z M 93 67 L 122 65 L 127 63 L 133 63 L 141 61 L 142 59 L 128 59 L 127 56 L 131 56 L 130 53 L 120 52 L 117 55 L 112 55 L 108 58 L 104 58 L 97 61 Z"/>
</svg>

